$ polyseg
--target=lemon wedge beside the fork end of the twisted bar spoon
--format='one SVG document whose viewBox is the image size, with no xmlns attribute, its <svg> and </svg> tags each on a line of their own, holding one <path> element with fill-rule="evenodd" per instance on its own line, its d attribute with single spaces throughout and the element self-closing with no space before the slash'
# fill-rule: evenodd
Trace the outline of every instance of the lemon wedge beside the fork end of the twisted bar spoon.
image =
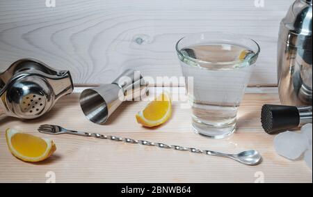
<svg viewBox="0 0 313 197">
<path fill-rule="evenodd" d="M 15 129 L 6 130 L 6 143 L 15 157 L 29 162 L 45 160 L 56 151 L 54 141 L 24 134 Z"/>
</svg>

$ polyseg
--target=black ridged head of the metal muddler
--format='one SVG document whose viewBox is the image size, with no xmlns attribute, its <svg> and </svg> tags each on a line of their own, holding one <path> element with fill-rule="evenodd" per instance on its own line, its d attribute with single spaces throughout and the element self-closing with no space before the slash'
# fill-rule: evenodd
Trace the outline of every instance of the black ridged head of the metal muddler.
<svg viewBox="0 0 313 197">
<path fill-rule="evenodd" d="M 300 113 L 297 107 L 264 104 L 261 114 L 262 127 L 268 134 L 285 132 L 300 124 Z"/>
</svg>

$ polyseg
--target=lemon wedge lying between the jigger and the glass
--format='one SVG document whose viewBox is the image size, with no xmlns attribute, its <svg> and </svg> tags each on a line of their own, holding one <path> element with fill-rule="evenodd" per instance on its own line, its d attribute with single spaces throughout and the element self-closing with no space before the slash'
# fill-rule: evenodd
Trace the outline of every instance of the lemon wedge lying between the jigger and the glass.
<svg viewBox="0 0 313 197">
<path fill-rule="evenodd" d="M 170 94 L 161 93 L 154 101 L 147 104 L 145 109 L 136 114 L 137 122 L 145 127 L 156 127 L 166 123 L 172 115 Z"/>
</svg>

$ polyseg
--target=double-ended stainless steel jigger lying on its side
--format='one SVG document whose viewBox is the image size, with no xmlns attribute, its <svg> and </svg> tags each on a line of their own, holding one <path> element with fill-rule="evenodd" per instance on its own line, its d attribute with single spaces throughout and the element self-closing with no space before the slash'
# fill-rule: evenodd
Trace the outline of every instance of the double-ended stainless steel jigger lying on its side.
<svg viewBox="0 0 313 197">
<path fill-rule="evenodd" d="M 136 100 L 146 93 L 143 76 L 137 71 L 126 70 L 112 84 L 83 90 L 81 109 L 88 120 L 104 125 L 122 102 Z"/>
</svg>

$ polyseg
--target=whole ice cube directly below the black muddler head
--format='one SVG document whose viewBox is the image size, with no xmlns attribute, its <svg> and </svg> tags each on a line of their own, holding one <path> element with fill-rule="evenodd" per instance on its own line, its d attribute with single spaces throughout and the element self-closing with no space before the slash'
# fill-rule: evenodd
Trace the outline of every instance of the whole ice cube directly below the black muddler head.
<svg viewBox="0 0 313 197">
<path fill-rule="evenodd" d="M 274 147 L 278 155 L 291 160 L 301 157 L 309 146 L 307 137 L 296 132 L 284 132 L 274 139 Z"/>
</svg>

